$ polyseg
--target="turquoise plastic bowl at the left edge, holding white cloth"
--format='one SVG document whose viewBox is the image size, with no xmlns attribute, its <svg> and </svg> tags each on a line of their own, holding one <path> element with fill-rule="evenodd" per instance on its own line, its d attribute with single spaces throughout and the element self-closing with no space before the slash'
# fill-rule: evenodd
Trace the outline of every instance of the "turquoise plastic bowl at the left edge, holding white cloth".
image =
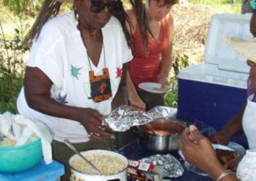
<svg viewBox="0 0 256 181">
<path fill-rule="evenodd" d="M 43 157 L 41 139 L 17 147 L 0 147 L 0 171 L 24 171 Z"/>
</svg>

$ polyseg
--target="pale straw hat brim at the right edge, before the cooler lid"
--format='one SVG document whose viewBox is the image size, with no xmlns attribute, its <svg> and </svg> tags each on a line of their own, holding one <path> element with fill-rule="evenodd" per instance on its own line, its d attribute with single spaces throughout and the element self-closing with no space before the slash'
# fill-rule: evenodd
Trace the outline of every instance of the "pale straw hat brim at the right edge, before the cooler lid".
<svg viewBox="0 0 256 181">
<path fill-rule="evenodd" d="M 256 38 L 252 40 L 244 40 L 236 36 L 230 36 L 224 38 L 227 45 L 237 53 L 243 55 L 246 59 L 256 63 Z"/>
</svg>

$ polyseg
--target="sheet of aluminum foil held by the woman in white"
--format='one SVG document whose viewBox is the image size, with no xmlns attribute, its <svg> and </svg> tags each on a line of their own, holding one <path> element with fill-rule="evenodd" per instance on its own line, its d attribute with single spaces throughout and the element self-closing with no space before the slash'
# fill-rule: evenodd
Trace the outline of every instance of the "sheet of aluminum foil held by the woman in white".
<svg viewBox="0 0 256 181">
<path fill-rule="evenodd" d="M 108 125 L 113 131 L 127 131 L 132 126 L 147 124 L 159 118 L 163 118 L 161 113 L 140 112 L 132 110 L 131 106 L 122 105 L 113 110 L 102 124 Z"/>
</svg>

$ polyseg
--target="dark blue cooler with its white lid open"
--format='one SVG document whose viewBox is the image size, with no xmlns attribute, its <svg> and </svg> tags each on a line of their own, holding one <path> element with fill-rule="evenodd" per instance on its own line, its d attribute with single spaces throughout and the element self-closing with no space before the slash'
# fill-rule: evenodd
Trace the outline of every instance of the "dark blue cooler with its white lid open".
<svg viewBox="0 0 256 181">
<path fill-rule="evenodd" d="M 246 103 L 249 67 L 246 59 L 227 47 L 225 36 L 252 39 L 252 14 L 216 14 L 212 16 L 205 47 L 204 63 L 180 70 L 177 117 L 200 120 L 217 131 Z M 232 141 L 247 147 L 246 137 Z"/>
</svg>

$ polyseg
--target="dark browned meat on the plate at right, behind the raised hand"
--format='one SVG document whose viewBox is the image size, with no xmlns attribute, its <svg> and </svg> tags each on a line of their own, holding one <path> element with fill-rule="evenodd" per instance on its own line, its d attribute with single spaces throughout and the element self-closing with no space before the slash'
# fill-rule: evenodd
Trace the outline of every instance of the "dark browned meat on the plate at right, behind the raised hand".
<svg viewBox="0 0 256 181">
<path fill-rule="evenodd" d="M 223 165 L 228 164 L 232 159 L 239 157 L 239 154 L 233 150 L 223 150 L 219 148 L 216 149 L 216 155 Z"/>
</svg>

